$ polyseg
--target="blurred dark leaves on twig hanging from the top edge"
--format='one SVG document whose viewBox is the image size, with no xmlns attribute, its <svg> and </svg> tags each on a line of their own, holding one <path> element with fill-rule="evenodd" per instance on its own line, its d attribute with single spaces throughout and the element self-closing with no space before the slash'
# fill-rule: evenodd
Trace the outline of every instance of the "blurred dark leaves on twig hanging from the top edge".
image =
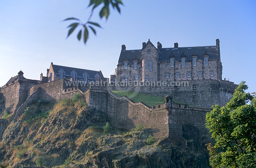
<svg viewBox="0 0 256 168">
<path fill-rule="evenodd" d="M 90 3 L 88 5 L 88 7 L 92 6 L 92 10 L 90 13 L 89 18 L 87 19 L 87 21 L 85 23 L 81 22 L 81 20 L 79 20 L 78 18 L 75 17 L 69 17 L 67 19 L 65 19 L 64 21 L 67 20 L 76 20 L 76 22 L 71 23 L 67 28 L 69 28 L 67 37 L 70 36 L 70 34 L 73 33 L 73 31 L 77 28 L 77 27 L 81 27 L 79 33 L 77 34 L 77 39 L 80 41 L 81 37 L 83 36 L 83 41 L 84 44 L 86 44 L 87 39 L 89 38 L 89 28 L 91 31 L 93 31 L 93 33 L 96 35 L 96 30 L 95 27 L 101 28 L 101 26 L 96 23 L 96 22 L 92 22 L 90 21 L 91 17 L 93 16 L 93 11 L 95 8 L 97 8 L 98 6 L 100 6 L 101 4 L 103 4 L 102 9 L 99 12 L 99 17 L 105 17 L 106 20 L 108 20 L 108 16 L 110 14 L 110 7 L 112 6 L 113 9 L 117 9 L 117 11 L 120 13 L 120 7 L 119 5 L 123 4 L 122 0 L 90 0 Z"/>
</svg>

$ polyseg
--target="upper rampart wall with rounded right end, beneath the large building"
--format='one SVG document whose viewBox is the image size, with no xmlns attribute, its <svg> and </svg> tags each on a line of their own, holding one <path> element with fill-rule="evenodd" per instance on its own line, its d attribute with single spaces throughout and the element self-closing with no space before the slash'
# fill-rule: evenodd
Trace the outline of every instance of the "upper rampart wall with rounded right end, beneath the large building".
<svg viewBox="0 0 256 168">
<path fill-rule="evenodd" d="M 171 95 L 178 101 L 192 106 L 211 108 L 212 105 L 224 106 L 234 93 L 236 84 L 230 81 L 194 80 L 145 82 L 137 84 L 112 84 L 108 90 L 131 90 L 155 96 Z"/>
</svg>

